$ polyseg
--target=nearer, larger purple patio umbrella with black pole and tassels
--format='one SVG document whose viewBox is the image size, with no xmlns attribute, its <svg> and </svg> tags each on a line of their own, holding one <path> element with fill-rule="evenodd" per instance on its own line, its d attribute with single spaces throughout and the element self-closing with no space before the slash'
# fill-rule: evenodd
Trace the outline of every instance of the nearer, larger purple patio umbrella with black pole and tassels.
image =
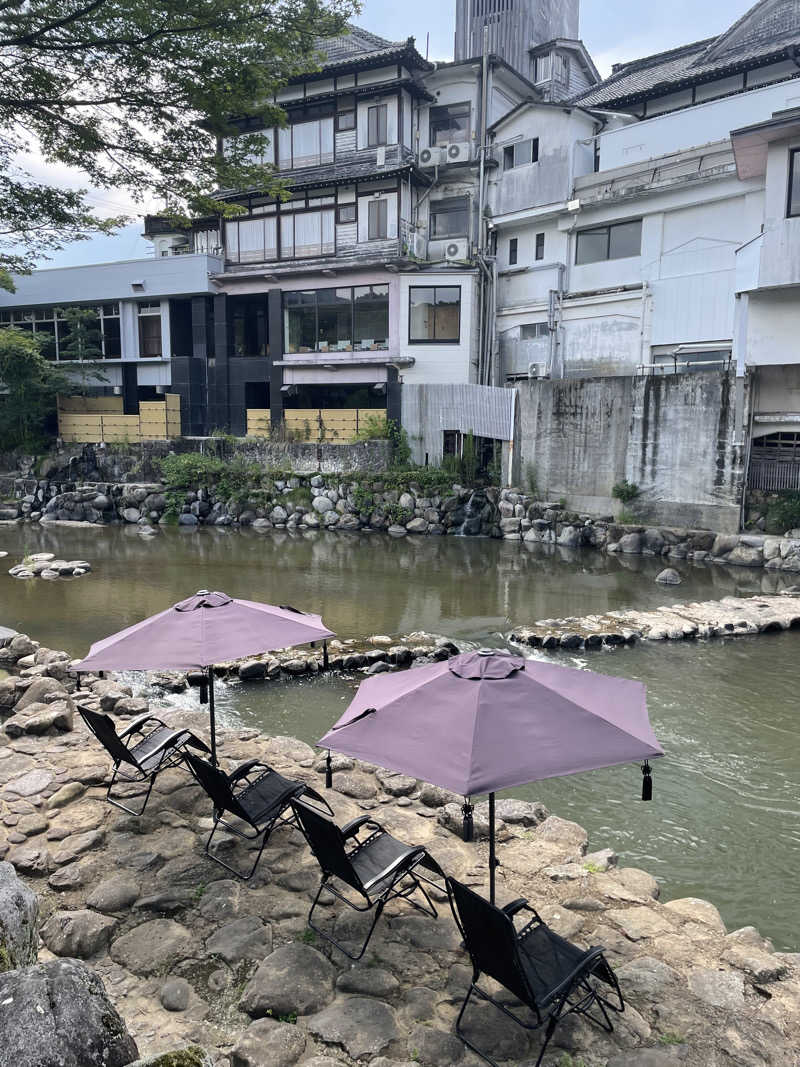
<svg viewBox="0 0 800 1067">
<path fill-rule="evenodd" d="M 367 679 L 318 744 L 462 794 L 467 840 L 487 793 L 492 901 L 497 790 L 643 760 L 649 800 L 663 755 L 641 682 L 495 651 Z"/>
</svg>

